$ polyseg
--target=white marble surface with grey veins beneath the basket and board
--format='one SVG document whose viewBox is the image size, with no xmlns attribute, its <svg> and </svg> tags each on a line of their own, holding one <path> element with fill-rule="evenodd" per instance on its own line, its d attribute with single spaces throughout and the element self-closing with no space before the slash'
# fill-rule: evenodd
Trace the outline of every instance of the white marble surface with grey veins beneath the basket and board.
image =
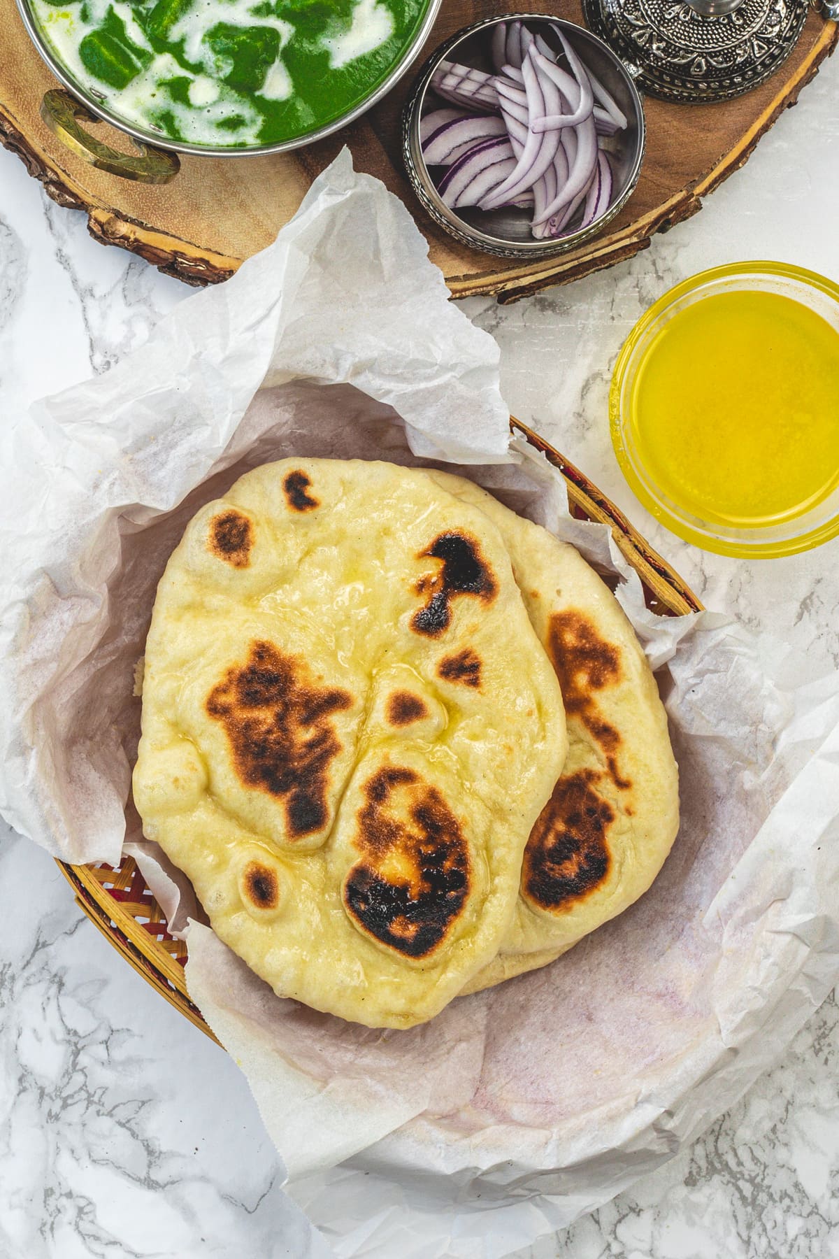
<svg viewBox="0 0 839 1259">
<path fill-rule="evenodd" d="M 467 303 L 502 347 L 511 409 L 591 475 L 712 607 L 839 667 L 839 541 L 787 560 L 703 555 L 652 521 L 608 436 L 609 371 L 638 315 L 716 263 L 839 279 L 839 59 L 703 213 L 569 288 Z M 187 296 L 103 249 L 0 152 L 4 415 L 107 371 Z M 839 895 L 839 890 L 838 890 Z M 171 1064 L 179 1070 L 172 1073 Z M 0 837 L 0 1259 L 322 1259 L 279 1187 L 234 1063 L 82 917 L 49 857 Z M 839 1259 L 839 1010 L 829 1000 L 714 1127 L 596 1215 L 518 1259 Z"/>
</svg>

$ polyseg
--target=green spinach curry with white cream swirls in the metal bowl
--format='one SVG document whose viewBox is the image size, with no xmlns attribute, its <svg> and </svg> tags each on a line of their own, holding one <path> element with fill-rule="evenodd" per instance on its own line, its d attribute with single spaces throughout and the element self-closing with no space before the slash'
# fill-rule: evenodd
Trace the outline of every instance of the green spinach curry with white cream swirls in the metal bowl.
<svg viewBox="0 0 839 1259">
<path fill-rule="evenodd" d="M 400 60 L 428 0 L 31 0 L 73 78 L 169 140 L 242 149 L 345 115 Z"/>
</svg>

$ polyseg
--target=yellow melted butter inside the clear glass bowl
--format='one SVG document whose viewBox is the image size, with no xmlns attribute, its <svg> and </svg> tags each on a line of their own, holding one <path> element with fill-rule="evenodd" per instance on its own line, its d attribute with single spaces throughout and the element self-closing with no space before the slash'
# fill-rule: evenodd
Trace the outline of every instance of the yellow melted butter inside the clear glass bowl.
<svg viewBox="0 0 839 1259">
<path fill-rule="evenodd" d="M 735 528 L 792 519 L 839 482 L 839 332 L 780 293 L 702 298 L 652 341 L 630 412 L 682 507 Z"/>
</svg>

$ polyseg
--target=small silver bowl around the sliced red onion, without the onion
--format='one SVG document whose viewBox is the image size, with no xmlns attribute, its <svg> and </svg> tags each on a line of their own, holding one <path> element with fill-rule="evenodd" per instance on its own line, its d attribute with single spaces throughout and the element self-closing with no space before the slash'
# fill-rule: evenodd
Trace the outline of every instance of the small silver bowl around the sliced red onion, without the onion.
<svg viewBox="0 0 839 1259">
<path fill-rule="evenodd" d="M 571 232 L 569 235 L 552 240 L 536 240 L 530 230 L 527 210 L 504 208 L 498 210 L 463 209 L 450 210 L 438 193 L 431 179 L 420 144 L 420 122 L 430 110 L 450 104 L 436 96 L 431 87 L 431 77 L 444 59 L 474 65 L 477 69 L 492 71 L 489 44 L 492 28 L 499 21 L 523 21 L 533 34 L 537 31 L 553 48 L 558 49 L 551 29 L 560 28 L 566 39 L 580 54 L 584 64 L 590 65 L 604 87 L 611 92 L 620 108 L 626 115 L 629 126 L 609 141 L 609 156 L 614 172 L 615 199 L 609 209 L 587 228 Z M 614 219 L 631 196 L 640 175 L 644 159 L 647 128 L 644 125 L 644 106 L 629 71 L 601 39 L 584 26 L 562 18 L 551 18 L 542 13 L 509 13 L 501 18 L 488 18 L 472 26 L 464 26 L 457 35 L 436 49 L 423 67 L 416 87 L 405 107 L 403 116 L 403 157 L 409 179 L 423 204 L 449 235 L 462 244 L 484 253 L 494 253 L 502 258 L 550 258 L 576 249 L 584 240 L 597 235 Z"/>
</svg>

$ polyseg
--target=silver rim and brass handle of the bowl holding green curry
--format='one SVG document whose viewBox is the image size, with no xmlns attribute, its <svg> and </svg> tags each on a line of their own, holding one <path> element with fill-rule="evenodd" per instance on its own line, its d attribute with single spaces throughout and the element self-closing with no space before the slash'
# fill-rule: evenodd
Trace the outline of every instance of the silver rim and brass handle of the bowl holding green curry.
<svg viewBox="0 0 839 1259">
<path fill-rule="evenodd" d="M 169 179 L 177 174 L 180 164 L 175 156 L 176 154 L 195 154 L 204 157 L 257 157 L 264 154 L 279 154 L 286 152 L 289 149 L 299 149 L 303 145 L 313 144 L 316 140 L 322 140 L 325 136 L 332 135 L 333 131 L 340 131 L 341 127 L 346 127 L 350 122 L 355 122 L 356 118 L 358 118 L 362 113 L 366 113 L 366 111 L 376 104 L 377 101 L 381 101 L 381 98 L 390 92 L 394 84 L 411 65 L 430 34 L 442 3 L 443 0 L 428 0 L 428 8 L 423 16 L 423 21 L 418 26 L 410 44 L 406 44 L 401 57 L 391 67 L 390 73 L 385 79 L 382 79 L 379 87 L 365 97 L 364 101 L 353 106 L 353 108 L 347 110 L 347 112 L 341 115 L 338 118 L 333 118 L 332 122 L 327 122 L 325 126 L 313 131 L 307 131 L 304 135 L 296 136 L 292 140 L 282 140 L 278 144 L 272 145 L 252 145 L 249 147 L 238 149 L 175 141 L 170 140 L 166 135 L 158 131 L 136 127 L 132 123 L 126 122 L 118 113 L 113 112 L 108 107 L 103 96 L 99 96 L 96 91 L 92 91 L 89 87 L 78 82 L 78 79 L 74 78 L 70 71 L 58 58 L 55 50 L 50 47 L 47 37 L 40 29 L 35 15 L 29 8 L 29 0 L 18 0 L 18 9 L 20 10 L 20 16 L 33 44 L 55 78 L 59 79 L 65 88 L 65 92 L 55 88 L 47 92 L 44 101 L 42 102 L 42 117 L 44 118 L 47 126 L 55 132 L 55 135 L 58 135 L 69 149 L 72 149 L 79 157 L 91 162 L 91 165 L 94 165 L 101 170 L 107 170 L 114 175 L 122 175 L 125 179 L 160 184 L 167 183 Z M 138 159 L 136 156 L 125 156 L 118 154 L 107 145 L 103 145 L 101 141 L 94 140 L 94 137 L 89 136 L 79 125 L 81 122 L 94 122 L 97 120 L 108 122 L 118 131 L 131 136 L 140 150 L 141 157 Z M 164 152 L 161 152 L 161 150 L 164 150 Z M 169 161 L 165 160 L 166 154 L 170 155 Z M 156 155 L 157 161 L 146 162 L 146 155 L 152 155 L 152 157 Z"/>
</svg>

